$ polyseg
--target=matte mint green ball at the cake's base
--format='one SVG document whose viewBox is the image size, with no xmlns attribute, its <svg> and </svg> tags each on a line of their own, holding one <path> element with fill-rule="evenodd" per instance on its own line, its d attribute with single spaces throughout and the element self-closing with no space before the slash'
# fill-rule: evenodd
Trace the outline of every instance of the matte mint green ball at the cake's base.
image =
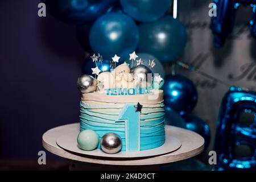
<svg viewBox="0 0 256 182">
<path fill-rule="evenodd" d="M 93 130 L 81 131 L 77 137 L 77 144 L 82 150 L 94 150 L 98 147 L 98 134 Z"/>
</svg>

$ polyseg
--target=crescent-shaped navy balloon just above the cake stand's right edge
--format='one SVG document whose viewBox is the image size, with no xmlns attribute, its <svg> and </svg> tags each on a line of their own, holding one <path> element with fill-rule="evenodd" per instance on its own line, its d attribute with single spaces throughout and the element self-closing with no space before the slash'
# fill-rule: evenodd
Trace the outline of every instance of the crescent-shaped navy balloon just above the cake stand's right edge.
<svg viewBox="0 0 256 182">
<path fill-rule="evenodd" d="M 184 119 L 188 130 L 195 131 L 204 138 L 204 148 L 206 150 L 210 143 L 209 125 L 196 116 L 186 115 Z"/>
</svg>

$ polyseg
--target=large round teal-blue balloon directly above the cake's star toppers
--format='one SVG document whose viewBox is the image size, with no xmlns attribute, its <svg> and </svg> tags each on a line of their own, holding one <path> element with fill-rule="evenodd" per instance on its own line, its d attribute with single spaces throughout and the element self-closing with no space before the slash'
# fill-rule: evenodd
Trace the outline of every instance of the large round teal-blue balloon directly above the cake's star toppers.
<svg viewBox="0 0 256 182">
<path fill-rule="evenodd" d="M 101 16 L 90 30 L 90 46 L 105 59 L 115 54 L 127 57 L 139 42 L 139 31 L 134 21 L 122 13 Z"/>
</svg>

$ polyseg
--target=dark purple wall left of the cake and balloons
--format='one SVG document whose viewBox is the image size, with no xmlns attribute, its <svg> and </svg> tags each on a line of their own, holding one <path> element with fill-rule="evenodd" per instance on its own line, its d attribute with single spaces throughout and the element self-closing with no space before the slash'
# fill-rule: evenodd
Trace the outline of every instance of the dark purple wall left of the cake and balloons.
<svg viewBox="0 0 256 182">
<path fill-rule="evenodd" d="M 39 2 L 0 2 L 0 157 L 36 158 L 45 131 L 79 121 L 84 51 L 75 26 L 40 18 Z"/>
</svg>

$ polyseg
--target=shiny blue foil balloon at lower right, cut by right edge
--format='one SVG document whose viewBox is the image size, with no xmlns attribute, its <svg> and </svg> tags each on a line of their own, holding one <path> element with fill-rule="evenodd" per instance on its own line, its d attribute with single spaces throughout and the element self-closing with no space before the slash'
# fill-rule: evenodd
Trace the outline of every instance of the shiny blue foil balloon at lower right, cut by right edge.
<svg viewBox="0 0 256 182">
<path fill-rule="evenodd" d="M 242 118 L 241 113 L 248 118 Z M 232 87 L 225 94 L 214 150 L 215 170 L 256 170 L 256 92 Z"/>
</svg>

